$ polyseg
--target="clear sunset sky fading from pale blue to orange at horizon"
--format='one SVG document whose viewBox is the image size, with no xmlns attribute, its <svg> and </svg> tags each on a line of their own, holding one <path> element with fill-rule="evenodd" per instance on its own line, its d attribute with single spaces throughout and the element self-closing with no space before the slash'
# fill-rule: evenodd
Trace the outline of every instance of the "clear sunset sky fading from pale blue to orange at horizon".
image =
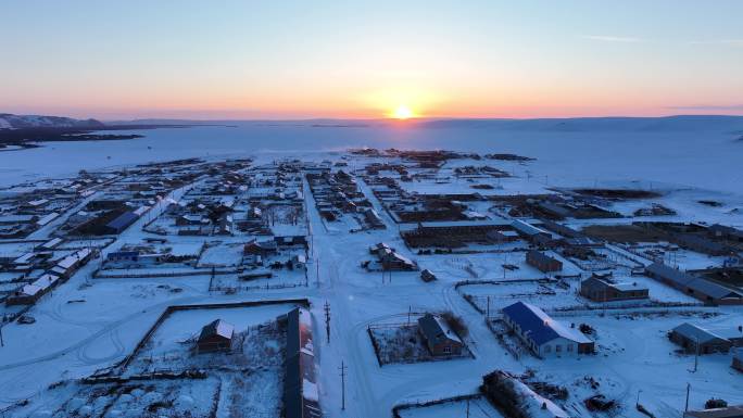
<svg viewBox="0 0 743 418">
<path fill-rule="evenodd" d="M 0 113 L 743 114 L 742 17 L 738 0 L 3 0 Z"/>
</svg>

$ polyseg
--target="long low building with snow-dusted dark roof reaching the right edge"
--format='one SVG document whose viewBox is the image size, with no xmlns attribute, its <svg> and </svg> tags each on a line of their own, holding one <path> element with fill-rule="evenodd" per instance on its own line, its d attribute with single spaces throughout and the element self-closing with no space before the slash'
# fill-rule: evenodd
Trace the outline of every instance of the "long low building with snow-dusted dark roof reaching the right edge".
<svg viewBox="0 0 743 418">
<path fill-rule="evenodd" d="M 743 293 L 707 279 L 677 270 L 663 263 L 653 263 L 645 267 L 645 275 L 709 305 L 743 304 Z"/>
</svg>

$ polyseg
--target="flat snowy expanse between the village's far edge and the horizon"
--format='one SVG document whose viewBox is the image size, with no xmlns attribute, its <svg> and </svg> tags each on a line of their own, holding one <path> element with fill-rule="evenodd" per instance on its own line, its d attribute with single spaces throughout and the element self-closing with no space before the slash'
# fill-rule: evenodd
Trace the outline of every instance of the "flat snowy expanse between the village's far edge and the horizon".
<svg viewBox="0 0 743 418">
<path fill-rule="evenodd" d="M 530 167 L 550 186 L 690 186 L 743 193 L 743 126 L 735 123 L 597 127 L 499 123 L 372 124 L 357 127 L 312 123 L 230 123 L 119 131 L 144 138 L 125 141 L 47 142 L 0 152 L 0 185 L 109 166 L 182 157 L 257 153 L 320 157 L 318 152 L 355 147 L 450 149 L 536 157 Z M 111 134 L 111 132 L 106 132 Z M 118 134 L 118 132 L 116 132 Z"/>
</svg>

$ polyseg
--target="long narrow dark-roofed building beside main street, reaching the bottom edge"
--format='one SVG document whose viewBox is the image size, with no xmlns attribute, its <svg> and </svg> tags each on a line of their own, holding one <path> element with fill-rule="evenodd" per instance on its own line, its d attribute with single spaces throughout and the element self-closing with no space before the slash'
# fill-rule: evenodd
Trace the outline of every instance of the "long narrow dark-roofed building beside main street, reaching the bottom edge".
<svg viewBox="0 0 743 418">
<path fill-rule="evenodd" d="M 312 315 L 308 311 L 298 307 L 280 319 L 287 322 L 284 417 L 322 418 L 312 339 Z"/>
</svg>

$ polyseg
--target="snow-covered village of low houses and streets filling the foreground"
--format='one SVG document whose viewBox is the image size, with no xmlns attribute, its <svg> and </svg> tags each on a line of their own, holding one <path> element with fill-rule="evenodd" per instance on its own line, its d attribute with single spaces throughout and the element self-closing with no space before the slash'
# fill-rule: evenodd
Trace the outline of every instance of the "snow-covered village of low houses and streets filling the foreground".
<svg viewBox="0 0 743 418">
<path fill-rule="evenodd" d="M 743 198 L 532 162 L 363 148 L 0 189 L 0 417 L 743 417 Z"/>
</svg>

